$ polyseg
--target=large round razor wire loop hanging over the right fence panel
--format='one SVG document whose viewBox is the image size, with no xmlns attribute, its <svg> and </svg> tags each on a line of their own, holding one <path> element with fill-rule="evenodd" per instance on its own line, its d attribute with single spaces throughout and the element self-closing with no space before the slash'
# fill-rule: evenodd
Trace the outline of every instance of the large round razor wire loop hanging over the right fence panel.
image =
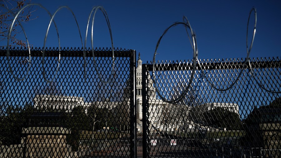
<svg viewBox="0 0 281 158">
<path fill-rule="evenodd" d="M 152 78 L 153 78 L 153 82 L 154 82 L 154 85 L 155 85 L 155 88 L 156 88 L 156 91 L 158 93 L 158 95 L 160 96 L 160 98 L 168 103 L 177 103 L 179 102 L 180 100 L 182 100 L 184 97 L 185 97 L 185 94 L 187 93 L 188 89 L 190 88 L 190 85 L 192 83 L 192 80 L 194 78 L 194 74 L 195 74 L 195 70 L 196 70 L 196 59 L 198 58 L 198 49 L 197 49 L 197 41 L 196 41 L 196 35 L 195 35 L 195 32 L 193 32 L 192 30 L 192 27 L 190 26 L 190 23 L 189 21 L 187 20 L 186 17 L 183 17 L 184 19 L 184 22 L 175 22 L 174 24 L 172 24 L 171 26 L 169 26 L 168 28 L 165 29 L 165 31 L 163 32 L 162 36 L 159 38 L 157 44 L 156 44 L 156 48 L 155 48 L 155 53 L 154 53 L 154 56 L 153 56 L 153 70 L 152 70 Z M 190 81 L 188 83 L 188 86 L 186 87 L 186 89 L 184 91 L 181 92 L 180 96 L 175 98 L 175 99 L 171 99 L 171 100 L 167 100 L 165 98 L 165 96 L 162 96 L 160 94 L 160 91 L 158 89 L 158 86 L 156 84 L 156 78 L 155 78 L 155 58 L 156 58 L 156 54 L 157 54 L 157 49 L 160 45 L 160 41 L 162 39 L 162 37 L 164 37 L 164 35 L 168 32 L 168 30 L 172 27 L 175 27 L 177 25 L 183 25 L 186 29 L 186 32 L 187 32 L 187 35 L 188 35 L 188 38 L 190 40 L 190 37 L 189 37 L 189 34 L 188 34 L 188 31 L 187 31 L 187 28 L 190 29 L 190 32 L 191 32 L 191 37 L 192 37 L 192 43 L 191 43 L 191 40 L 190 40 L 190 43 L 191 43 L 191 46 L 192 46 L 192 49 L 193 49 L 193 69 L 192 69 L 192 74 L 191 74 L 191 77 L 190 77 Z"/>
</svg>

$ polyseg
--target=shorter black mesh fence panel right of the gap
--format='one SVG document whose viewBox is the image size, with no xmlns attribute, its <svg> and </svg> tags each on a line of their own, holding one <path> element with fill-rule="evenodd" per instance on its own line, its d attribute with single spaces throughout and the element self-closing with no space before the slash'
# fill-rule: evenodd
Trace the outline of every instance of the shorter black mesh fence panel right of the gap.
<svg viewBox="0 0 281 158">
<path fill-rule="evenodd" d="M 142 65 L 143 157 L 280 157 L 280 57 L 194 62 Z"/>
</svg>

